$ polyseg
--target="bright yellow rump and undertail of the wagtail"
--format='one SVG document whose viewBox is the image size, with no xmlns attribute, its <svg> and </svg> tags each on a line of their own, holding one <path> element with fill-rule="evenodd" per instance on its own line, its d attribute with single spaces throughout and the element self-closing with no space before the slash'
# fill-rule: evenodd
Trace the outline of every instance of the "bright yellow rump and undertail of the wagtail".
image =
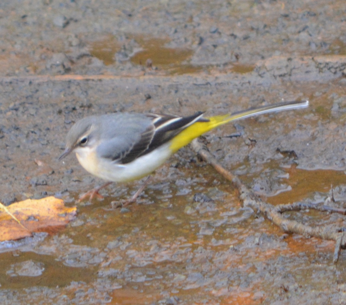
<svg viewBox="0 0 346 305">
<path fill-rule="evenodd" d="M 172 152 L 176 152 L 181 149 L 181 147 L 188 145 L 194 138 L 199 137 L 203 133 L 206 133 L 219 125 L 226 124 L 235 118 L 232 115 L 226 114 L 206 119 L 209 119 L 209 122 L 196 122 L 176 135 L 171 141 L 170 149 Z"/>
</svg>

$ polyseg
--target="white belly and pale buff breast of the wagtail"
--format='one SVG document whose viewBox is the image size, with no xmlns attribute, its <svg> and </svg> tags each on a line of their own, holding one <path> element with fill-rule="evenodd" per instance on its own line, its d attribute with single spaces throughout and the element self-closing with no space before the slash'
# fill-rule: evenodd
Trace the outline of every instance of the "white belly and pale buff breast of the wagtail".
<svg viewBox="0 0 346 305">
<path fill-rule="evenodd" d="M 76 156 L 82 167 L 99 178 L 113 182 L 126 182 L 143 178 L 160 167 L 172 154 L 170 142 L 143 155 L 136 160 L 118 164 L 109 159 L 95 158 L 95 152 L 76 149 Z"/>
</svg>

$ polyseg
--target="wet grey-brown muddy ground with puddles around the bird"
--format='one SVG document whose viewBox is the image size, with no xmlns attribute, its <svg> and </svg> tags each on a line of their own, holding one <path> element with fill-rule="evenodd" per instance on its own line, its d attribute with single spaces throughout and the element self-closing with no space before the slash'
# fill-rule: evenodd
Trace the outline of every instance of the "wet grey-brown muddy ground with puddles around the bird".
<svg viewBox="0 0 346 305">
<path fill-rule="evenodd" d="M 286 234 L 186 147 L 154 175 L 100 185 L 74 156 L 79 118 L 114 111 L 207 115 L 280 100 L 299 111 L 222 126 L 209 150 L 266 201 L 344 207 L 346 8 L 338 1 L 2 1 L 0 200 L 78 206 L 67 228 L 1 243 L 1 304 L 343 304 L 346 253 Z M 148 61 L 149 60 L 149 61 Z M 345 226 L 342 215 L 301 212 Z"/>
</svg>

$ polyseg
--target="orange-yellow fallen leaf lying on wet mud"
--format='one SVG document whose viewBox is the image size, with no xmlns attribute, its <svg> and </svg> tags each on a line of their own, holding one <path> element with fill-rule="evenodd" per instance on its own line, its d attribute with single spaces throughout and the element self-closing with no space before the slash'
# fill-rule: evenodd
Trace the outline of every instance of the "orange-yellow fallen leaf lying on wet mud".
<svg viewBox="0 0 346 305">
<path fill-rule="evenodd" d="M 65 207 L 63 200 L 53 196 L 13 203 L 0 212 L 0 241 L 31 236 L 32 232 L 51 232 L 75 215 L 76 207 Z"/>
</svg>

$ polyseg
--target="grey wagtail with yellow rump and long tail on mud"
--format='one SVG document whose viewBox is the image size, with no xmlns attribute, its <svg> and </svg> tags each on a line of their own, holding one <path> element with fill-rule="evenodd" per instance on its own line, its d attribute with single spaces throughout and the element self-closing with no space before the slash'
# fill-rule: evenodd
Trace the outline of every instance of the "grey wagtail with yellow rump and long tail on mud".
<svg viewBox="0 0 346 305">
<path fill-rule="evenodd" d="M 219 125 L 308 105 L 307 100 L 283 102 L 206 118 L 200 111 L 186 117 L 138 113 L 89 116 L 71 127 L 66 137 L 66 149 L 59 160 L 75 151 L 84 169 L 110 181 L 89 191 L 80 200 L 87 196 L 92 199 L 95 195 L 102 198 L 98 194 L 101 188 L 111 182 L 127 182 L 147 176 L 181 147 Z M 131 202 L 134 200 L 133 197 Z"/>
</svg>

